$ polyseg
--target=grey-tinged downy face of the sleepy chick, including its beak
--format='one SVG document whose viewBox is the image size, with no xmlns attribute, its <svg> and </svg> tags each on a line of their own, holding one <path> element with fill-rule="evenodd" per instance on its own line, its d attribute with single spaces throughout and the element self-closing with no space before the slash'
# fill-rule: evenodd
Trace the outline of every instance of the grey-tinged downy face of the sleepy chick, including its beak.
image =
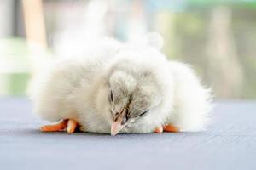
<svg viewBox="0 0 256 170">
<path fill-rule="evenodd" d="M 130 128 L 159 105 L 160 94 L 150 72 L 113 71 L 109 78 L 108 102 L 113 117 L 111 134 Z"/>
</svg>

